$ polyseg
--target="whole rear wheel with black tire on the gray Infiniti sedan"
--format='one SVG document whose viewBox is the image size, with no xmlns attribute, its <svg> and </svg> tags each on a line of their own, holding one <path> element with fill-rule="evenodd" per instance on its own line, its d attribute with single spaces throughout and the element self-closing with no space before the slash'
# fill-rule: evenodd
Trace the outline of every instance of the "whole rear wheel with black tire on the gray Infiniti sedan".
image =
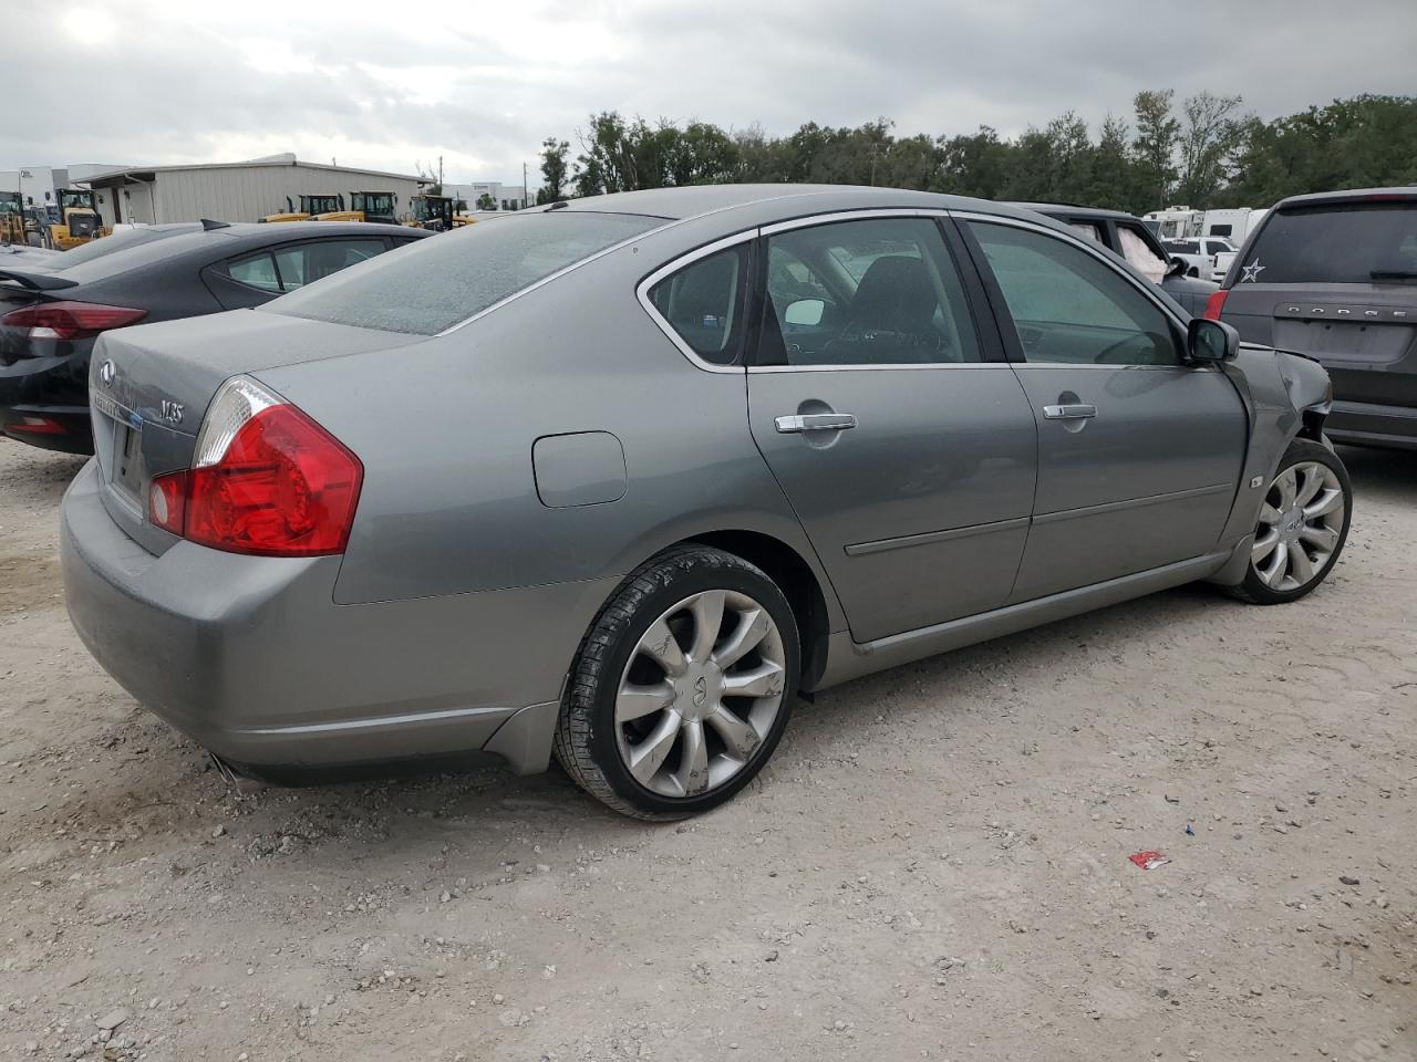
<svg viewBox="0 0 1417 1062">
<path fill-rule="evenodd" d="M 801 641 L 782 590 L 740 556 L 674 547 L 601 609 L 575 657 L 555 758 L 635 818 L 717 807 L 762 769 L 796 695 Z"/>
</svg>

